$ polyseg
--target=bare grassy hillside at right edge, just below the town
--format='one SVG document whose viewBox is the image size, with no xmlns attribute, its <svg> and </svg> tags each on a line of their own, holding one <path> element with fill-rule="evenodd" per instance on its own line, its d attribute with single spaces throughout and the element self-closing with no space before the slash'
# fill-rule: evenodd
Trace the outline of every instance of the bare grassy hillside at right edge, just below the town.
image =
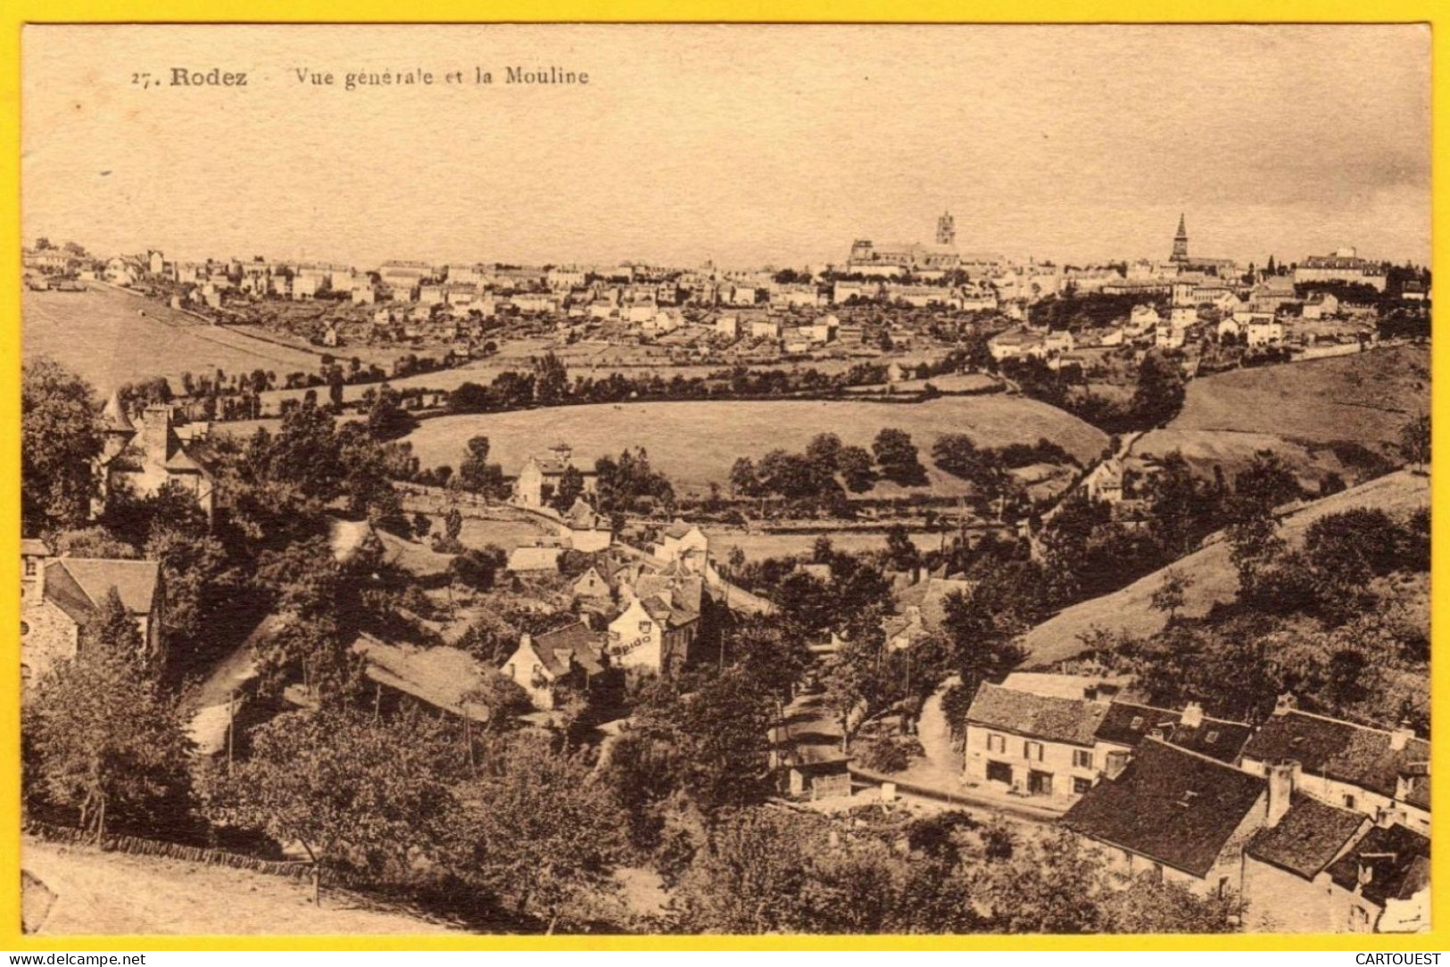
<svg viewBox="0 0 1450 967">
<path fill-rule="evenodd" d="M 1347 445 L 1385 452 L 1411 418 L 1428 410 L 1430 349 L 1388 346 L 1193 380 L 1177 418 L 1140 439 L 1132 454 L 1179 449 L 1199 473 L 1218 464 L 1232 476 L 1256 449 L 1273 449 L 1317 489 L 1327 473 L 1363 478 Z"/>
</svg>

